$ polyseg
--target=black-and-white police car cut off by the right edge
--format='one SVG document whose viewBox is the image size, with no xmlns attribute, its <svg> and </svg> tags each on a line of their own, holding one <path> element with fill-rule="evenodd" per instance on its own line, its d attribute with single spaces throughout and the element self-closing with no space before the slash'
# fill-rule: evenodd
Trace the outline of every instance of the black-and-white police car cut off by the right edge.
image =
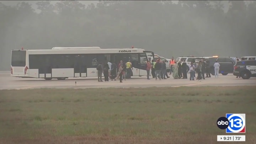
<svg viewBox="0 0 256 144">
<path fill-rule="evenodd" d="M 234 65 L 233 75 L 242 77 L 243 79 L 256 77 L 256 60 L 245 60 L 236 62 L 236 64 Z"/>
</svg>

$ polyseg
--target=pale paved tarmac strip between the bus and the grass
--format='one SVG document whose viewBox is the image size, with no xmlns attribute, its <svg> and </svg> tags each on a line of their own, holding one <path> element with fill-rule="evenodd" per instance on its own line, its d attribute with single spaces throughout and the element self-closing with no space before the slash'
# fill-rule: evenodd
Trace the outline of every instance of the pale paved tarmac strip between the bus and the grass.
<svg viewBox="0 0 256 144">
<path fill-rule="evenodd" d="M 189 77 L 189 74 L 188 74 Z M 33 89 L 33 88 L 129 88 L 129 87 L 181 87 L 181 86 L 238 86 L 238 85 L 255 85 L 256 78 L 242 79 L 236 78 L 233 74 L 222 76 L 219 78 L 206 78 L 201 82 L 190 81 L 189 79 L 162 79 L 161 81 L 146 77 L 133 77 L 127 79 L 123 83 L 119 81 L 98 82 L 96 77 L 90 78 L 68 78 L 63 81 L 37 78 L 16 78 L 11 77 L 10 73 L 0 73 L 0 89 Z M 76 86 L 75 86 L 75 82 Z"/>
</svg>

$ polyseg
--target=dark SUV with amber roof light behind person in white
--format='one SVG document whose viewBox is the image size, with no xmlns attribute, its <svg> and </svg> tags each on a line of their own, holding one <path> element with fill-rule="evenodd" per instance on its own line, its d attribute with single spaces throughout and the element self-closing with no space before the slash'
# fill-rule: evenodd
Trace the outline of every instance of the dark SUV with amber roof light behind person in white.
<svg viewBox="0 0 256 144">
<path fill-rule="evenodd" d="M 214 63 L 217 62 L 220 64 L 219 73 L 226 76 L 228 73 L 233 73 L 234 65 L 236 63 L 236 57 L 209 57 L 208 61 L 210 62 L 210 73 L 214 76 Z"/>
</svg>

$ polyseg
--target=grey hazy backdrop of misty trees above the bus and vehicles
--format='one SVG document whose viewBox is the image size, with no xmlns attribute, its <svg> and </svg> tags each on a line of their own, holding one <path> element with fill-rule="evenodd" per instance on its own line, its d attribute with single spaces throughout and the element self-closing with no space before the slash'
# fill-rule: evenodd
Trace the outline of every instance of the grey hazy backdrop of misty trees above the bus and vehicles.
<svg viewBox="0 0 256 144">
<path fill-rule="evenodd" d="M 176 4 L 111 0 L 90 5 L 34 1 L 33 6 L 31 2 L 2 2 L 0 71 L 10 70 L 11 50 L 21 47 L 133 45 L 165 58 L 256 55 L 255 1 L 230 1 L 228 9 L 224 9 L 228 1 L 218 0 Z"/>
</svg>

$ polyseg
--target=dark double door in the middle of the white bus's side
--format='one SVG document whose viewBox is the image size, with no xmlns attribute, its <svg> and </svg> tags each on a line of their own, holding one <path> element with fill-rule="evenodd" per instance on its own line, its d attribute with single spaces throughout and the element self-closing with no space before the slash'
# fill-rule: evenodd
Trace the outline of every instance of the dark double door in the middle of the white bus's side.
<svg viewBox="0 0 256 144">
<path fill-rule="evenodd" d="M 84 64 L 84 59 L 85 56 L 83 55 L 76 55 L 75 56 L 75 61 L 74 61 L 74 77 L 86 77 L 87 76 L 87 68 L 86 65 Z"/>
</svg>

